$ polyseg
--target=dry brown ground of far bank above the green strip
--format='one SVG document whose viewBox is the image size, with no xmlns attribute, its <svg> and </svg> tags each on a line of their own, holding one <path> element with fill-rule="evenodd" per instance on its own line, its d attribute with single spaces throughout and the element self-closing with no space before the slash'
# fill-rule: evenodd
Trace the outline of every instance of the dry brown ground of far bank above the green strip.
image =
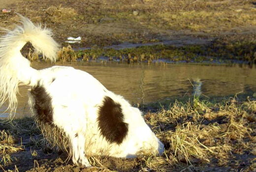
<svg viewBox="0 0 256 172">
<path fill-rule="evenodd" d="M 256 34 L 254 0 L 3 0 L 0 8 L 46 24 L 64 46 L 81 36 L 73 47 Z M 17 21 L 13 12 L 0 13 L 1 27 Z"/>
</svg>

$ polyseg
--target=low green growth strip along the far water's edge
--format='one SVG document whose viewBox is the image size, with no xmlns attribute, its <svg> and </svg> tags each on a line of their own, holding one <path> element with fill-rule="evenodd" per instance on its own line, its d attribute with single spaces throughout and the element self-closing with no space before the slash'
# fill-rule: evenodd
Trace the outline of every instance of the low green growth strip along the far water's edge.
<svg viewBox="0 0 256 172">
<path fill-rule="evenodd" d="M 40 57 L 28 53 L 30 60 L 38 60 Z M 152 45 L 135 48 L 102 48 L 93 47 L 75 51 L 70 45 L 63 47 L 58 53 L 58 61 L 117 61 L 117 62 L 147 62 L 147 63 L 256 63 L 255 39 L 230 40 L 219 38 L 205 45 Z"/>
</svg>

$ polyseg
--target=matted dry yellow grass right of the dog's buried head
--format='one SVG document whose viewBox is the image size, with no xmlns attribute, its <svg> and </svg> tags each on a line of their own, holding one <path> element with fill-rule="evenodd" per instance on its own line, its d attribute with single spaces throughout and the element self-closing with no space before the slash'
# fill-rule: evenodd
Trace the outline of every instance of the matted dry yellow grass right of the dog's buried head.
<svg viewBox="0 0 256 172">
<path fill-rule="evenodd" d="M 254 112 L 256 101 L 238 102 L 235 98 L 219 104 L 200 101 L 174 102 L 169 110 L 148 113 L 145 119 L 165 144 L 169 166 L 180 163 L 195 165 L 210 162 L 212 158 L 220 166 L 227 165 L 233 153 L 254 152 L 255 137 L 251 137 L 255 125 L 248 120 Z M 253 127 L 253 128 L 252 128 Z M 245 140 L 250 139 L 250 142 Z M 152 166 L 150 161 L 147 166 Z"/>
</svg>

